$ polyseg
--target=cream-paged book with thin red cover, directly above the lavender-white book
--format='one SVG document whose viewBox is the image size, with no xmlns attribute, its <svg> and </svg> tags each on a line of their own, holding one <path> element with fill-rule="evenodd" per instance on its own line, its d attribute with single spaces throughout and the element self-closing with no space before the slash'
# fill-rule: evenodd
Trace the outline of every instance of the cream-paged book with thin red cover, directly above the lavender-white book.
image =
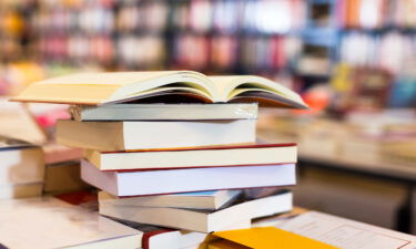
<svg viewBox="0 0 416 249">
<path fill-rule="evenodd" d="M 85 158 L 101 170 L 229 167 L 296 163 L 296 144 L 256 144 L 205 148 L 99 152 Z"/>
</svg>

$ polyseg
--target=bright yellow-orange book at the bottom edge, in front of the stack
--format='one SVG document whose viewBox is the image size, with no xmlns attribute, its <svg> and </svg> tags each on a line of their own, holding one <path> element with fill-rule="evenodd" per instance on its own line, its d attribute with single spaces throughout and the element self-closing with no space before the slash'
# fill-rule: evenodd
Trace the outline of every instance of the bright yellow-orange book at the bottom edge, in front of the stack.
<svg viewBox="0 0 416 249">
<path fill-rule="evenodd" d="M 209 249 L 336 249 L 336 247 L 274 227 L 217 231 L 213 235 L 226 241 L 214 240 L 210 242 Z"/>
</svg>

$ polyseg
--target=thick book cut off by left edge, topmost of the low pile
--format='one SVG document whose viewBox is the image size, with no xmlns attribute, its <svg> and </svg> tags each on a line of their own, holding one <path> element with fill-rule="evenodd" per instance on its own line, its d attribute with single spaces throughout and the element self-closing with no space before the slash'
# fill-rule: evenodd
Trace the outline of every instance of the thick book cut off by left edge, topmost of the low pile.
<svg viewBox="0 0 416 249">
<path fill-rule="evenodd" d="M 42 148 L 24 141 L 0 135 L 0 186 L 42 183 Z"/>
</svg>

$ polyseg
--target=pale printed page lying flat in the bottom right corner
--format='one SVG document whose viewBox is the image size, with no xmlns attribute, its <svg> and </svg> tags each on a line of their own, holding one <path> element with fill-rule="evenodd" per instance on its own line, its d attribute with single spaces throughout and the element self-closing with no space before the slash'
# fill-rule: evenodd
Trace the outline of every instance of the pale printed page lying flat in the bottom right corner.
<svg viewBox="0 0 416 249">
<path fill-rule="evenodd" d="M 287 231 L 344 249 L 414 249 L 416 237 L 317 211 L 277 225 Z"/>
</svg>

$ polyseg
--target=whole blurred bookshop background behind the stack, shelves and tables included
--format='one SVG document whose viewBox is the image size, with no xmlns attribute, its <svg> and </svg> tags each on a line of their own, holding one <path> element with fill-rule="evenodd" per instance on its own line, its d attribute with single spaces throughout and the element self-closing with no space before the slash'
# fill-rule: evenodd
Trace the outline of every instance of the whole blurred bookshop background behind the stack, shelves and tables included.
<svg viewBox="0 0 416 249">
<path fill-rule="evenodd" d="M 261 139 L 300 145 L 295 204 L 416 234 L 415 0 L 1 0 L 0 17 L 0 134 L 53 139 L 65 106 L 6 101 L 50 76 L 258 74 L 311 105 L 260 116 Z"/>
</svg>

